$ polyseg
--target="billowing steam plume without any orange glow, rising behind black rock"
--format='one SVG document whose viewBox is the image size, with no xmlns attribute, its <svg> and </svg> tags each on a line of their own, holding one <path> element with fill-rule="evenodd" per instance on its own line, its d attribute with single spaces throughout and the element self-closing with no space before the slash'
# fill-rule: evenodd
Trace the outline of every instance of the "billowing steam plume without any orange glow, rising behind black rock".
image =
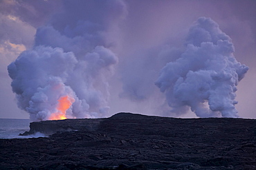
<svg viewBox="0 0 256 170">
<path fill-rule="evenodd" d="M 199 117 L 238 117 L 236 86 L 248 67 L 237 62 L 233 52 L 230 37 L 219 25 L 199 18 L 190 28 L 185 52 L 167 63 L 156 81 L 172 111 L 190 107 Z"/>
</svg>

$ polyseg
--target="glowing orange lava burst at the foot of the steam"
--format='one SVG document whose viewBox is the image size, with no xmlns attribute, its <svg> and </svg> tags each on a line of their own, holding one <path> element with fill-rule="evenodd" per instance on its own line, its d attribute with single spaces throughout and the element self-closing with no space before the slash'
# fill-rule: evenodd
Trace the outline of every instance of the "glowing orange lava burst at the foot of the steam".
<svg viewBox="0 0 256 170">
<path fill-rule="evenodd" d="M 75 99 L 71 96 L 62 96 L 58 100 L 57 112 L 51 114 L 49 120 L 63 120 L 66 119 L 66 110 L 71 107 L 72 103 L 74 103 Z"/>
</svg>

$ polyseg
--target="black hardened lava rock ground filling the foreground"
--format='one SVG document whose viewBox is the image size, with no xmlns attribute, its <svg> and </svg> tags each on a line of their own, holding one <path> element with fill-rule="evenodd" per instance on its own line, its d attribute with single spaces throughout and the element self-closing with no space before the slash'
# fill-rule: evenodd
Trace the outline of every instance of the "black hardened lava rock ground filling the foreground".
<svg viewBox="0 0 256 170">
<path fill-rule="evenodd" d="M 120 113 L 37 131 L 52 135 L 0 140 L 0 169 L 256 169 L 256 120 Z"/>
</svg>

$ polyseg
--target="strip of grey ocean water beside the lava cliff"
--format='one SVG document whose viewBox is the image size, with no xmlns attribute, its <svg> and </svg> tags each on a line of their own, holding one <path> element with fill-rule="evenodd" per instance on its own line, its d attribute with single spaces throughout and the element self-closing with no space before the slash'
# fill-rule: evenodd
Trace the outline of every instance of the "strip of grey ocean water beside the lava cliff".
<svg viewBox="0 0 256 170">
<path fill-rule="evenodd" d="M 25 131 L 29 131 L 29 119 L 12 119 L 12 118 L 0 118 L 0 138 L 38 138 L 45 137 L 44 134 L 34 134 L 30 136 L 19 136 Z"/>
</svg>

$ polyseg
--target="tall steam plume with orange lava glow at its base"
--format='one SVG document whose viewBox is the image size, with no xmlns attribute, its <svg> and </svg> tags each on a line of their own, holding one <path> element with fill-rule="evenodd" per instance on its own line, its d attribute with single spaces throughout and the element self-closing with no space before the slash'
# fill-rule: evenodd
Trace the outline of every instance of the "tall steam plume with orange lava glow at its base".
<svg viewBox="0 0 256 170">
<path fill-rule="evenodd" d="M 19 108 L 32 120 L 85 118 L 107 113 L 107 76 L 118 58 L 109 47 L 126 13 L 122 1 L 63 0 L 37 29 L 33 49 L 8 65 Z"/>
</svg>

